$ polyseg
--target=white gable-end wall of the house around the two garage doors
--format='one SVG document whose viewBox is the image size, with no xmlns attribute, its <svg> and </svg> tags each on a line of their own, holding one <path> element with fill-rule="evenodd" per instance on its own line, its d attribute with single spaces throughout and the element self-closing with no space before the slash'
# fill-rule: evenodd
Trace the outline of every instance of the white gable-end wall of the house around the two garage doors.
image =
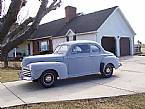
<svg viewBox="0 0 145 109">
<path fill-rule="evenodd" d="M 110 17 L 102 24 L 102 26 L 97 31 L 97 42 L 101 44 L 101 39 L 103 36 L 106 37 L 115 37 L 116 39 L 116 55 L 120 56 L 120 38 L 128 37 L 130 39 L 130 55 L 133 55 L 133 38 L 134 34 L 130 30 L 130 27 L 127 25 L 126 20 L 124 19 L 121 11 L 116 9 L 110 15 Z"/>
</svg>

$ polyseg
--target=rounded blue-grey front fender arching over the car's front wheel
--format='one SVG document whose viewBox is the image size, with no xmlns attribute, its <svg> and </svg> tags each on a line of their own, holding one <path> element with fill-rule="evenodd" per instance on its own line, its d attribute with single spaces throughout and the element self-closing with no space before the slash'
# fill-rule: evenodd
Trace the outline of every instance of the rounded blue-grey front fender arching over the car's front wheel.
<svg viewBox="0 0 145 109">
<path fill-rule="evenodd" d="M 55 70 L 60 79 L 68 77 L 67 66 L 62 62 L 37 62 L 31 63 L 31 77 L 33 80 L 38 79 L 46 70 Z"/>
</svg>

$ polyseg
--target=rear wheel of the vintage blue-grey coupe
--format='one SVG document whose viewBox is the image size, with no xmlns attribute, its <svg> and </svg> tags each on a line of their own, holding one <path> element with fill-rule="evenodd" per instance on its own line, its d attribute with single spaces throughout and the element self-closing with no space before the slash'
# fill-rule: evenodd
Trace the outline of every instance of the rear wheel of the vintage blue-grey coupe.
<svg viewBox="0 0 145 109">
<path fill-rule="evenodd" d="M 104 78 L 110 78 L 113 74 L 113 66 L 111 64 L 107 64 L 105 68 L 103 68 L 101 75 Z"/>
</svg>

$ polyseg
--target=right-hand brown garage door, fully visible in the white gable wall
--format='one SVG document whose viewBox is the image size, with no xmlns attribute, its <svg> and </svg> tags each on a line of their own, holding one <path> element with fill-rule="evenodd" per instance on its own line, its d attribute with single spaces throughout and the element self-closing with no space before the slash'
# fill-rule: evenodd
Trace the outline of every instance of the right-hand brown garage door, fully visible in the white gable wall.
<svg viewBox="0 0 145 109">
<path fill-rule="evenodd" d="M 130 40 L 129 38 L 120 38 L 120 55 L 130 55 Z"/>
</svg>

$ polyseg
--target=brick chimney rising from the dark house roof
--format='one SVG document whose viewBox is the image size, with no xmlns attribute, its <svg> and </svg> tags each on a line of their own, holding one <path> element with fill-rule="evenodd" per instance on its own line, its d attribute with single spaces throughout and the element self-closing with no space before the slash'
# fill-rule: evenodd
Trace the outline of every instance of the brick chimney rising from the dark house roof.
<svg viewBox="0 0 145 109">
<path fill-rule="evenodd" d="M 65 7 L 65 21 L 66 23 L 70 22 L 73 18 L 76 17 L 76 7 L 66 6 Z"/>
</svg>

